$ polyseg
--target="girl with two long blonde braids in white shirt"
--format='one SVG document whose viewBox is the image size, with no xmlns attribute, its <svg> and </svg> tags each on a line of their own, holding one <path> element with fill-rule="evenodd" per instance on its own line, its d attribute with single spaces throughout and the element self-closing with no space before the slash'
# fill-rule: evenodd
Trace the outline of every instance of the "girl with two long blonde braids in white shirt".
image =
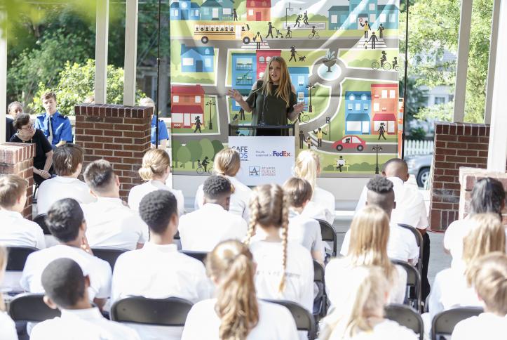
<svg viewBox="0 0 507 340">
<path fill-rule="evenodd" d="M 308 249 L 288 242 L 289 207 L 280 185 L 260 185 L 250 200 L 250 251 L 257 263 L 255 287 L 261 299 L 283 299 L 313 310 L 313 260 Z M 281 229 L 281 230 L 280 230 Z M 281 236 L 280 236 L 281 235 Z"/>
</svg>

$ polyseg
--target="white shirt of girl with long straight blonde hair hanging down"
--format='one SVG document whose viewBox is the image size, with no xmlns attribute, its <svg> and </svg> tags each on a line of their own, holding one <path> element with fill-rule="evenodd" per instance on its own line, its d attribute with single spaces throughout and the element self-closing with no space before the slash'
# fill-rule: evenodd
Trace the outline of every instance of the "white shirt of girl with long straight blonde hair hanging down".
<svg viewBox="0 0 507 340">
<path fill-rule="evenodd" d="M 353 268 L 348 257 L 332 259 L 325 266 L 325 291 L 332 306 L 340 306 L 344 301 L 343 292 L 349 291 L 347 289 L 349 282 L 344 280 L 344 277 L 348 277 Z M 394 266 L 394 268 L 396 268 L 396 279 L 393 285 L 389 285 L 391 289 L 388 302 L 403 303 L 407 287 L 407 271 L 401 266 Z"/>
</svg>

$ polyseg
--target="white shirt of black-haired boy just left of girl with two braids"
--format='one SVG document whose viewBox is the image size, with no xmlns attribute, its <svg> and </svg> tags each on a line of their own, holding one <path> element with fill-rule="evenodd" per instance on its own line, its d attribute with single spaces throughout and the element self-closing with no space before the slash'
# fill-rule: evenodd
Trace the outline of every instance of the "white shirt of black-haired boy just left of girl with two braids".
<svg viewBox="0 0 507 340">
<path fill-rule="evenodd" d="M 178 223 L 182 249 L 194 251 L 212 251 L 224 240 L 243 241 L 247 229 L 243 218 L 212 203 L 183 215 Z"/>
</svg>

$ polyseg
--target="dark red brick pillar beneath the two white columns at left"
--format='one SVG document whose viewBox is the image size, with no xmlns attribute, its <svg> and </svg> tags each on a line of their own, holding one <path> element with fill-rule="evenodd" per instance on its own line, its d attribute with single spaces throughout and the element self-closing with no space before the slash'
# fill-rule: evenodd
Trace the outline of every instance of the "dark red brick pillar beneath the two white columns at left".
<svg viewBox="0 0 507 340">
<path fill-rule="evenodd" d="M 149 150 L 151 107 L 123 105 L 78 105 L 76 143 L 85 149 L 85 164 L 107 159 L 120 177 L 120 195 L 128 197 L 130 188 L 141 183 L 137 170 Z"/>
</svg>

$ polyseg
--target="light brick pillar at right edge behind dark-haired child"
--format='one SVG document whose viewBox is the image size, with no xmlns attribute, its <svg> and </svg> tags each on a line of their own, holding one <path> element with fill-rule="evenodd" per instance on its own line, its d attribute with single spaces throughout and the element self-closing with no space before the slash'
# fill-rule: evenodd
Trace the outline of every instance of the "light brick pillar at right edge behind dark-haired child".
<svg viewBox="0 0 507 340">
<path fill-rule="evenodd" d="M 503 184 L 503 190 L 507 192 L 507 172 L 492 172 L 486 169 L 459 168 L 459 183 L 461 185 L 461 196 L 459 199 L 459 218 L 465 218 L 470 214 L 470 201 L 472 189 L 475 182 L 481 178 L 491 177 Z M 507 225 L 507 206 L 502 211 L 503 224 Z"/>
</svg>

